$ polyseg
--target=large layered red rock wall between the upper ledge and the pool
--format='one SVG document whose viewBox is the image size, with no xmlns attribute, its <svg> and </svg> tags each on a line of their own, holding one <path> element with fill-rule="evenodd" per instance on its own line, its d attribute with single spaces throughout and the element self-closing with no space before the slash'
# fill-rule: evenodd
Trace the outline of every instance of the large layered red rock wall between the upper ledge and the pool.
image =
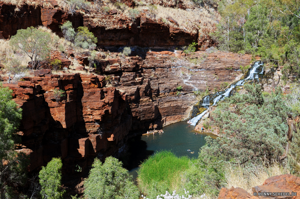
<svg viewBox="0 0 300 199">
<path fill-rule="evenodd" d="M 194 56 L 204 54 L 196 52 Z M 147 52 L 144 59 L 124 59 L 110 53 L 112 58 L 99 58 L 97 67 L 91 69 L 106 77 L 72 73 L 72 69 L 60 74 L 41 69 L 34 71 L 33 77 L 4 84 L 13 90 L 13 99 L 23 109 L 18 150 L 29 154 L 30 171 L 46 165 L 52 157 L 61 157 L 64 174 L 73 174 L 64 185 L 74 188 L 79 184 L 80 193 L 80 177 L 95 157 L 117 156 L 129 137 L 186 119 L 197 102 L 196 88 L 212 90 L 221 82 L 235 81 L 240 72 L 234 69 L 251 60 L 250 55 L 216 52 L 205 55 L 202 64 L 193 65 L 184 61 L 183 55 L 182 51 Z M 57 53 L 53 56 L 71 64 Z M 69 58 L 85 62 L 82 56 Z M 227 70 L 227 65 L 232 70 Z M 178 86 L 182 91 L 176 90 Z M 55 89 L 63 90 L 65 96 L 58 99 Z M 81 173 L 75 171 L 78 166 Z"/>
</svg>

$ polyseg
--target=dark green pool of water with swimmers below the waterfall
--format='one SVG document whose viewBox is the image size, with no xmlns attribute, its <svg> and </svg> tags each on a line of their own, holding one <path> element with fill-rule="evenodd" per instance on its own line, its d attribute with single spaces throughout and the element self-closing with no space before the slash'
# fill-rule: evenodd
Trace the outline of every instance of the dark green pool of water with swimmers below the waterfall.
<svg viewBox="0 0 300 199">
<path fill-rule="evenodd" d="M 199 149 L 205 144 L 204 138 L 215 135 L 199 133 L 195 135 L 194 126 L 188 127 L 186 121 L 177 122 L 163 128 L 164 133 L 142 135 L 129 141 L 129 153 L 124 164 L 129 173 L 137 177 L 138 166 L 156 151 L 171 150 L 177 156 L 197 158 Z M 146 132 L 145 132 L 146 133 Z M 189 153 L 187 150 L 192 153 Z M 124 162 L 124 161 L 123 161 Z"/>
</svg>

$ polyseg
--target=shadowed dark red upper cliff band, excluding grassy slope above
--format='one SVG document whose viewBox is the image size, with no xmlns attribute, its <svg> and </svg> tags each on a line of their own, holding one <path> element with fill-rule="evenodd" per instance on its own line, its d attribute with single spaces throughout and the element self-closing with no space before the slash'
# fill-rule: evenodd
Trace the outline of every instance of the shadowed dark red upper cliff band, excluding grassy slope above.
<svg viewBox="0 0 300 199">
<path fill-rule="evenodd" d="M 178 27 L 165 24 L 161 20 L 154 21 L 142 13 L 132 20 L 124 14 L 116 15 L 116 12 L 91 11 L 82 14 L 79 11 L 70 14 L 59 7 L 52 0 L 35 5 L 13 5 L 0 1 L 0 31 L 7 39 L 16 34 L 19 29 L 30 26 L 44 25 L 50 28 L 58 36 L 62 37 L 59 25 L 71 21 L 76 30 L 79 26 L 86 26 L 98 38 L 98 46 L 142 46 L 142 47 L 167 47 L 188 46 L 193 41 L 198 41 L 202 50 L 215 46 L 208 33 L 188 33 Z"/>
</svg>

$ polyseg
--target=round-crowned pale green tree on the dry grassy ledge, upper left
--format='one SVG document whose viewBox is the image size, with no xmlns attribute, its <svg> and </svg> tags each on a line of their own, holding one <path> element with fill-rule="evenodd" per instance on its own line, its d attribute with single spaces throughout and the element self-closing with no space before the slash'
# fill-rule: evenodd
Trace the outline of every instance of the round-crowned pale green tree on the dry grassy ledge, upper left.
<svg viewBox="0 0 300 199">
<path fill-rule="evenodd" d="M 17 34 L 10 39 L 10 45 L 15 50 L 20 50 L 30 57 L 33 69 L 36 69 L 38 61 L 49 57 L 51 35 L 40 29 L 30 27 L 20 29 Z"/>
</svg>

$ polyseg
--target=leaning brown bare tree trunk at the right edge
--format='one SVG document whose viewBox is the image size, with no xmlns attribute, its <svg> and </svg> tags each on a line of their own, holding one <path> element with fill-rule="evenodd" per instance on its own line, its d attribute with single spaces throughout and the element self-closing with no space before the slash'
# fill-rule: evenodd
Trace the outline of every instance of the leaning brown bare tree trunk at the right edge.
<svg viewBox="0 0 300 199">
<path fill-rule="evenodd" d="M 300 115 L 298 115 L 295 118 L 290 114 L 287 115 L 289 116 L 288 118 L 286 118 L 287 125 L 289 126 L 286 135 L 287 144 L 283 155 L 280 156 L 280 160 L 285 159 L 287 157 L 287 154 L 289 154 L 289 147 L 291 146 L 290 142 L 292 141 L 293 138 L 293 131 L 297 133 L 297 129 L 299 128 L 298 123 L 300 123 Z"/>
</svg>

